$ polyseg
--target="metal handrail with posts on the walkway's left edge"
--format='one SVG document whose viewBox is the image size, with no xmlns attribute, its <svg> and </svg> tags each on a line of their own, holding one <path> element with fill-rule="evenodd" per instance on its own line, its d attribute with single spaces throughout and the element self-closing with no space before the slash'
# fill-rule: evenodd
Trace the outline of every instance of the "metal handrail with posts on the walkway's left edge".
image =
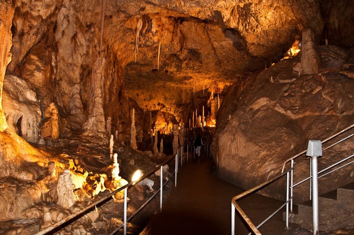
<svg viewBox="0 0 354 235">
<path fill-rule="evenodd" d="M 179 146 L 178 146 L 178 148 L 179 148 Z M 177 152 L 178 152 L 178 150 L 177 150 Z M 84 207 L 84 208 L 82 208 L 82 209 L 80 209 L 80 210 L 78 210 L 78 211 L 75 211 L 74 213 L 70 214 L 69 216 L 67 216 L 67 217 L 65 217 L 65 218 L 63 218 L 63 219 L 61 219 L 61 220 L 59 220 L 58 222 L 56 222 L 56 223 L 54 223 L 54 224 L 52 224 L 52 225 L 50 225 L 50 226 L 48 226 L 48 227 L 42 229 L 42 230 L 39 231 L 39 232 L 34 233 L 34 235 L 43 235 L 43 234 L 46 234 L 46 233 L 48 233 L 48 232 L 54 230 L 55 228 L 59 227 L 60 225 L 64 224 L 65 222 L 67 222 L 67 221 L 69 221 L 69 220 L 71 220 L 71 219 L 73 219 L 73 218 L 75 218 L 75 217 L 77 217 L 77 216 L 83 214 L 84 212 L 87 212 L 88 210 L 90 210 L 91 208 L 97 206 L 98 204 L 100 204 L 100 203 L 102 203 L 102 202 L 104 202 L 104 201 L 106 201 L 106 200 L 108 201 L 109 199 L 111 199 L 111 197 L 112 197 L 114 194 L 116 194 L 116 193 L 118 193 L 118 192 L 120 192 L 120 191 L 122 191 L 122 190 L 124 190 L 124 189 L 128 189 L 129 187 L 133 187 L 134 185 L 136 185 L 136 184 L 138 184 L 139 182 L 143 181 L 144 179 L 150 177 L 151 175 L 153 175 L 155 172 L 157 172 L 157 171 L 159 171 L 159 170 L 161 170 L 161 180 L 162 180 L 163 166 L 165 166 L 165 165 L 167 165 L 168 163 L 170 163 L 170 162 L 172 161 L 172 159 L 174 159 L 174 158 L 175 158 L 175 160 L 176 160 L 176 161 L 175 161 L 175 164 L 176 164 L 175 170 L 173 171 L 172 176 L 167 180 L 167 182 L 165 182 L 165 184 L 164 184 L 163 186 L 165 186 L 165 185 L 171 180 L 171 178 L 173 177 L 173 175 L 175 176 L 175 186 L 177 186 L 177 172 L 178 172 L 178 158 L 179 158 L 179 157 L 178 157 L 178 153 L 177 153 L 176 155 L 171 156 L 171 158 L 169 158 L 168 160 L 166 160 L 164 163 L 162 163 L 162 164 L 156 166 L 156 167 L 155 167 L 152 171 L 150 171 L 148 174 L 141 176 L 141 177 L 139 178 L 139 180 L 134 181 L 134 182 L 129 182 L 128 184 L 126 184 L 126 185 L 124 185 L 124 186 L 122 186 L 122 187 L 120 187 L 120 188 L 118 188 L 118 189 L 116 189 L 116 190 L 110 192 L 109 194 L 105 195 L 104 197 L 100 198 L 100 199 L 97 200 L 96 202 L 94 202 L 94 203 L 92 203 L 92 204 L 90 204 L 90 205 L 88 205 L 88 206 L 86 206 L 86 207 Z M 161 184 L 162 184 L 162 183 L 161 183 Z M 149 198 L 146 203 L 143 204 L 143 206 L 145 207 L 145 206 L 147 205 L 147 203 L 150 202 L 150 201 L 152 200 L 152 198 L 155 197 L 156 194 L 158 194 L 160 191 L 162 191 L 162 188 L 160 188 L 157 192 L 155 192 L 155 193 L 153 194 L 153 196 L 152 196 L 151 198 Z M 126 225 L 127 225 L 127 221 L 126 221 L 127 190 L 124 191 L 124 197 L 125 197 L 125 212 L 124 212 L 124 213 L 125 213 L 125 221 L 124 221 L 124 223 L 123 223 L 122 225 L 119 226 L 119 229 L 121 229 L 123 226 L 124 226 L 125 229 L 126 229 Z M 162 193 L 161 193 L 161 197 L 162 197 Z M 132 216 L 130 216 L 130 217 L 128 218 L 128 221 L 129 221 L 130 219 L 132 219 L 138 212 L 140 212 L 140 211 L 143 209 L 143 206 L 142 206 L 141 208 L 139 208 L 136 213 L 134 213 Z M 162 207 L 162 200 L 161 200 L 161 202 L 160 202 L 160 208 L 161 208 L 161 207 Z M 118 231 L 119 229 L 117 229 L 116 231 Z M 115 233 L 116 231 L 114 231 L 114 233 Z M 126 230 L 125 230 L 125 232 L 126 232 Z"/>
</svg>

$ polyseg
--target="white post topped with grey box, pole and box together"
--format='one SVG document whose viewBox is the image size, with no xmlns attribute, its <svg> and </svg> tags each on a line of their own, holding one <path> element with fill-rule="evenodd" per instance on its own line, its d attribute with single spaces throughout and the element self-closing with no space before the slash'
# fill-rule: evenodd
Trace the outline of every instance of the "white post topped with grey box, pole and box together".
<svg viewBox="0 0 354 235">
<path fill-rule="evenodd" d="M 313 235 L 319 234 L 319 188 L 317 158 L 322 156 L 322 142 L 320 140 L 309 140 L 306 156 L 311 157 L 312 174 L 312 230 Z"/>
</svg>

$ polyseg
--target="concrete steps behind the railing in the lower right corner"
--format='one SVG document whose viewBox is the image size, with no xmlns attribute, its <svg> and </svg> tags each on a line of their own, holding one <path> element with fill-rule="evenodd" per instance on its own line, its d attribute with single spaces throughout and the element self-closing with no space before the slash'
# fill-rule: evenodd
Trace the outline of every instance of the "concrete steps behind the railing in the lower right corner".
<svg viewBox="0 0 354 235">
<path fill-rule="evenodd" d="M 286 214 L 283 213 L 283 219 Z M 312 201 L 293 207 L 289 221 L 312 231 Z M 354 182 L 319 197 L 319 230 L 324 232 L 354 226 Z"/>
</svg>

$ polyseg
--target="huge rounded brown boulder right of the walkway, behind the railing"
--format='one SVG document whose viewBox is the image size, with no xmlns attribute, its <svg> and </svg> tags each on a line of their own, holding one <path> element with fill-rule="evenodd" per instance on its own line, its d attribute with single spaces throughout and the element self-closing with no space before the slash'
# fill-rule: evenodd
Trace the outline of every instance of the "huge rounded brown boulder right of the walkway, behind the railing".
<svg viewBox="0 0 354 235">
<path fill-rule="evenodd" d="M 347 54 L 339 48 L 321 47 L 321 55 L 320 75 L 293 74 L 289 67 L 292 70 L 299 62 L 296 57 L 232 85 L 219 109 L 213 142 L 220 177 L 251 188 L 280 173 L 287 159 L 306 149 L 309 139 L 324 140 L 352 124 L 354 80 L 336 72 Z M 278 79 L 285 73 L 289 78 L 286 83 Z M 269 83 L 270 77 L 273 83 Z M 349 141 L 343 149 L 350 147 L 354 146 Z M 321 161 L 333 162 L 340 153 Z M 296 165 L 301 177 L 308 174 L 305 169 Z M 322 180 L 320 193 L 350 181 L 350 169 L 339 173 L 333 182 Z M 263 193 L 283 198 L 284 184 L 278 186 L 267 187 Z M 307 193 L 301 190 L 296 201 L 307 200 Z"/>
</svg>

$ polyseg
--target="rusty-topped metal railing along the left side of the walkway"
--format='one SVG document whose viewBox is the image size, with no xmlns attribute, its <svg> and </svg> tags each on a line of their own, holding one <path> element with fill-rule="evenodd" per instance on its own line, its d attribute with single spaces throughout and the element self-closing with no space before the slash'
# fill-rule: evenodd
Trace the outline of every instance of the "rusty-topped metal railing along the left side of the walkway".
<svg viewBox="0 0 354 235">
<path fill-rule="evenodd" d="M 190 145 L 182 145 L 182 146 L 190 146 Z M 179 147 L 178 147 L 179 149 Z M 187 148 L 187 154 L 188 154 L 188 148 Z M 181 155 L 182 156 L 182 155 Z M 165 183 L 163 183 L 163 167 L 165 165 L 167 165 L 168 163 L 170 163 L 173 159 L 175 159 L 175 169 L 172 172 L 171 176 L 166 180 Z M 182 159 L 182 158 L 181 158 Z M 85 214 L 85 212 L 88 212 L 90 209 L 92 209 L 93 207 L 99 205 L 99 204 L 105 204 L 107 203 L 109 200 L 112 199 L 112 196 L 118 192 L 121 192 L 124 190 L 124 222 L 118 226 L 116 229 L 114 229 L 114 231 L 112 231 L 110 234 L 115 234 L 117 231 L 119 231 L 122 227 L 124 228 L 124 234 L 127 233 L 127 222 L 130 221 L 136 214 L 138 214 L 159 192 L 160 192 L 160 211 L 162 211 L 162 202 L 163 202 L 163 188 L 165 187 L 165 185 L 170 182 L 170 180 L 172 179 L 172 177 L 175 177 L 175 186 L 177 186 L 177 172 L 178 172 L 178 160 L 179 160 L 179 154 L 178 154 L 178 150 L 177 150 L 177 154 L 171 156 L 171 158 L 169 158 L 168 160 L 166 160 L 164 163 L 156 166 L 152 171 L 150 171 L 148 174 L 143 175 L 139 178 L 139 180 L 137 181 L 132 181 L 129 182 L 128 184 L 110 192 L 109 194 L 105 195 L 104 197 L 100 198 L 99 200 L 97 200 L 96 202 L 78 210 L 75 211 L 74 213 L 70 214 L 69 216 L 67 216 L 66 218 L 42 229 L 41 231 L 35 233 L 34 235 L 43 235 L 46 234 L 52 230 L 54 230 L 55 228 L 63 225 L 64 223 L 66 223 L 67 221 L 76 218 L 75 220 L 79 219 L 82 215 Z M 182 166 L 182 162 L 181 162 L 181 166 Z M 143 181 L 144 179 L 150 177 L 151 175 L 153 175 L 155 172 L 157 171 L 161 171 L 160 172 L 160 188 L 159 190 L 157 190 L 156 192 L 153 193 L 153 195 L 138 209 L 136 210 L 129 218 L 127 218 L 127 193 L 128 193 L 128 188 L 134 187 L 136 184 L 138 184 L 139 182 Z M 80 216 L 80 217 L 79 217 Z M 73 222 L 73 221 L 72 221 Z"/>
</svg>

